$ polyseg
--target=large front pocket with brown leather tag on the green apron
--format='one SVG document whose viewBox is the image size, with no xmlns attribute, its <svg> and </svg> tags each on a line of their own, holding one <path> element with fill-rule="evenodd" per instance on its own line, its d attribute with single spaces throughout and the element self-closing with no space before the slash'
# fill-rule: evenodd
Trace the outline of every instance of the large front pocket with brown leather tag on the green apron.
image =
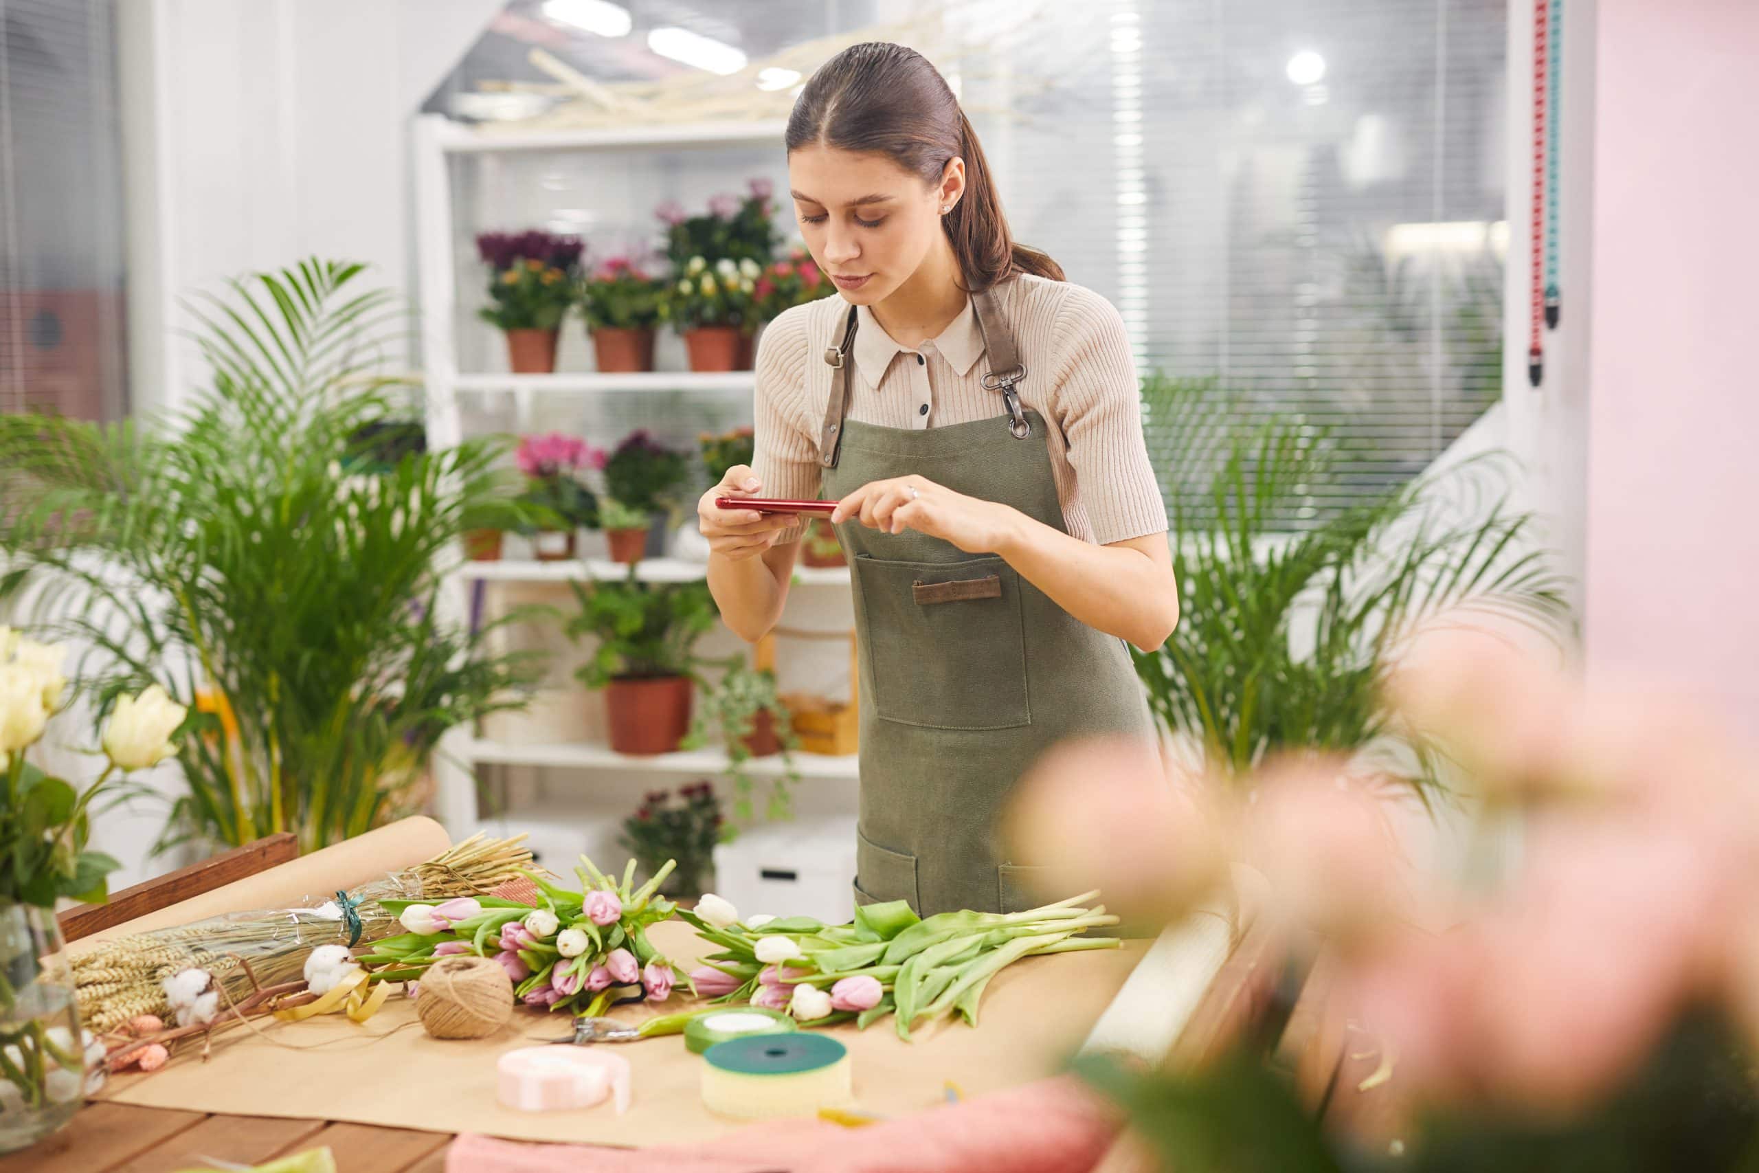
<svg viewBox="0 0 1759 1173">
<path fill-rule="evenodd" d="M 1001 557 L 894 563 L 860 556 L 874 712 L 936 730 L 1033 723 L 1020 577 Z"/>
</svg>

